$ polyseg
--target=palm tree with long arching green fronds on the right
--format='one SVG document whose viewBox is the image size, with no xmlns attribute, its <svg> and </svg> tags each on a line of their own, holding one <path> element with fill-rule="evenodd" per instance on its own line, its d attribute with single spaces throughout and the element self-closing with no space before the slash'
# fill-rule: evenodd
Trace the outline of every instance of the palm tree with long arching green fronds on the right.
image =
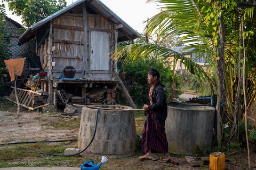
<svg viewBox="0 0 256 170">
<path fill-rule="evenodd" d="M 220 122 L 218 143 L 221 143 L 223 118 L 231 128 L 230 137 L 238 136 L 236 132 L 238 132 L 239 110 L 241 110 L 239 94 L 241 94 L 241 57 L 243 55 L 241 54 L 242 44 L 239 44 L 241 42 L 241 38 L 239 41 L 239 33 L 241 33 L 239 24 L 245 20 L 244 14 L 248 13 L 250 17 L 246 18 L 244 26 L 247 29 L 244 33 L 244 35 L 247 34 L 245 47 L 247 56 L 251 58 L 247 63 L 254 63 L 254 44 L 250 42 L 255 42 L 255 35 L 253 36 L 252 33 L 256 23 L 255 10 L 236 7 L 234 0 L 229 1 L 229 4 L 220 0 L 148 0 L 148 2 L 153 1 L 159 3 L 161 12 L 148 21 L 147 35 L 155 35 L 159 39 L 167 39 L 166 37 L 170 35 L 179 36 L 180 41 L 187 44 L 185 49 L 196 48 L 197 50 L 192 52 L 210 62 L 211 72 L 204 71 L 193 59 L 185 58 L 161 44 L 130 44 L 119 48 L 113 54 L 113 58 L 135 61 L 137 58 L 146 58 L 148 55 L 167 58 L 175 54 L 174 64 L 180 59 L 191 73 L 204 80 L 210 80 L 215 87 L 218 86 L 217 114 Z M 255 70 L 255 65 L 253 67 Z M 250 73 L 248 68 L 247 71 Z M 236 91 L 236 94 L 233 91 Z"/>
</svg>

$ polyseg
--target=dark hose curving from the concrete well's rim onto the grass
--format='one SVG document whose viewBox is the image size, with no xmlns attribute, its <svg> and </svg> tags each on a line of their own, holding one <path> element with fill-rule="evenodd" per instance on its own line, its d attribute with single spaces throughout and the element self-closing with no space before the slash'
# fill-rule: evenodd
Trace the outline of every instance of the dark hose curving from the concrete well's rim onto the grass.
<svg viewBox="0 0 256 170">
<path fill-rule="evenodd" d="M 75 154 L 72 154 L 72 155 L 59 155 L 59 154 L 46 153 L 46 152 L 22 151 L 22 150 L 19 150 L 19 152 L 39 153 L 39 154 L 45 154 L 45 155 L 51 155 L 51 156 L 61 156 L 61 157 L 71 157 L 71 156 L 79 155 L 80 153 L 84 152 L 84 151 L 91 145 L 91 143 L 92 143 L 92 141 L 93 141 L 93 139 L 94 139 L 94 137 L 95 137 L 95 134 L 96 134 L 96 131 L 97 131 L 97 125 L 98 125 L 99 110 L 100 110 L 100 109 L 97 109 L 97 110 L 96 110 L 95 129 L 94 129 L 94 132 L 93 132 L 92 139 L 91 139 L 90 143 L 87 145 L 87 147 L 84 148 L 82 151 L 80 151 L 80 152 L 78 152 L 78 153 L 75 153 Z"/>
</svg>

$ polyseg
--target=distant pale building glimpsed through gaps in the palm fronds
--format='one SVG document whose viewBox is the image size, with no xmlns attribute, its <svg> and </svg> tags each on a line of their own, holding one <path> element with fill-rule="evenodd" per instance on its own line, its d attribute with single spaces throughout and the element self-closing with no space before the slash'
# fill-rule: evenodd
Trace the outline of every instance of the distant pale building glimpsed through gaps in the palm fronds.
<svg viewBox="0 0 256 170">
<path fill-rule="evenodd" d="M 177 53 L 181 53 L 183 56 L 185 56 L 187 58 L 194 58 L 194 59 L 198 58 L 198 55 L 193 53 L 193 51 L 195 51 L 196 48 L 190 48 L 189 50 L 184 50 L 183 48 L 185 48 L 185 46 L 175 47 L 173 49 L 173 51 L 175 51 Z M 174 55 L 171 55 L 169 58 L 169 61 L 173 61 L 173 59 L 174 59 Z M 203 57 L 198 58 L 194 61 L 202 67 L 207 66 L 207 63 L 208 63 L 205 60 L 205 58 L 203 58 Z M 173 66 L 171 69 L 173 70 Z M 184 64 L 180 63 L 180 59 L 179 59 L 177 64 L 175 65 L 175 72 L 182 73 L 182 72 L 186 72 L 186 71 L 187 71 L 187 69 L 185 68 Z"/>
</svg>

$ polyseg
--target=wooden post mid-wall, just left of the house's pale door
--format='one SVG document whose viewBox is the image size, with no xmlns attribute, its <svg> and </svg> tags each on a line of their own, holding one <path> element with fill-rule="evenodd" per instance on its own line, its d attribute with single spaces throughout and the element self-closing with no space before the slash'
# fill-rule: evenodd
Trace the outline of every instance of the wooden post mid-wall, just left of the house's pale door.
<svg viewBox="0 0 256 170">
<path fill-rule="evenodd" d="M 86 6 L 83 3 L 84 49 L 83 49 L 83 77 L 87 76 L 87 15 Z M 83 78 L 82 77 L 82 78 Z"/>
</svg>

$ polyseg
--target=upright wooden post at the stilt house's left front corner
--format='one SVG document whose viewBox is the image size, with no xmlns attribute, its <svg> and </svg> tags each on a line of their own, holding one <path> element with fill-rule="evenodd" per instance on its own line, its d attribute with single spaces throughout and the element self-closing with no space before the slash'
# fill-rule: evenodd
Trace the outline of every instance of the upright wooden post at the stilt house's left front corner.
<svg viewBox="0 0 256 170">
<path fill-rule="evenodd" d="M 48 68 L 48 98 L 50 106 L 53 104 L 53 87 L 52 87 L 52 21 L 50 21 L 50 31 L 49 31 L 49 46 L 48 46 L 48 54 L 49 54 L 49 68 Z M 46 63 L 47 64 L 47 63 Z"/>
</svg>

